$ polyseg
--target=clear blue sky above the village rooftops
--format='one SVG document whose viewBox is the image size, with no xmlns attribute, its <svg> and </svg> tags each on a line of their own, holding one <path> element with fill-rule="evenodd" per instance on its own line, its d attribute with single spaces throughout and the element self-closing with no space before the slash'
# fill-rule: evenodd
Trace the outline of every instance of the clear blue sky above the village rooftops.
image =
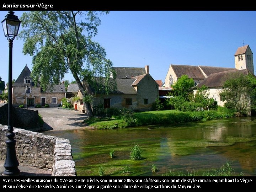
<svg viewBox="0 0 256 192">
<path fill-rule="evenodd" d="M 20 18 L 22 12 L 15 15 Z M 1 20 L 6 14 L 0 11 Z M 243 40 L 256 52 L 256 11 L 111 11 L 101 20 L 94 39 L 113 65 L 149 65 L 155 80 L 164 81 L 170 64 L 234 68 L 234 53 Z M 1 33 L 0 76 L 7 82 L 9 48 Z M 25 64 L 32 69 L 32 57 L 22 48 L 23 41 L 15 39 L 13 79 Z M 66 74 L 64 79 L 74 78 Z"/>
</svg>

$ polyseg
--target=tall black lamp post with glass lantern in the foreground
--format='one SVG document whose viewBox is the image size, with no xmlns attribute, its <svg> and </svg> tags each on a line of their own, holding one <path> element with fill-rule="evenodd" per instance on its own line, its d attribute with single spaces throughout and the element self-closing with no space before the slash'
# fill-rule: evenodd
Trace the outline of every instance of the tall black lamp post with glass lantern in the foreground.
<svg viewBox="0 0 256 192">
<path fill-rule="evenodd" d="M 21 21 L 18 16 L 14 15 L 13 11 L 9 11 L 9 14 L 5 16 L 2 21 L 2 27 L 4 29 L 4 35 L 9 41 L 9 87 L 8 87 L 8 133 L 6 137 L 8 138 L 6 143 L 6 158 L 5 158 L 5 171 L 4 174 L 8 176 L 17 176 L 20 174 L 18 169 L 18 160 L 16 156 L 14 139 L 15 134 L 13 133 L 13 118 L 12 118 L 12 44 L 14 38 L 18 34 L 18 29 L 20 27 Z"/>
</svg>

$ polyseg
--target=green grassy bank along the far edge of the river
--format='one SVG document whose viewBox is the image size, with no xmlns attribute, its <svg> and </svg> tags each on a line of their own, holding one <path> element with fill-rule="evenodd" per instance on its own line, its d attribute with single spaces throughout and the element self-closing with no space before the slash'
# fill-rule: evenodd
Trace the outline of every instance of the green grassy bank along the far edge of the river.
<svg viewBox="0 0 256 192">
<path fill-rule="evenodd" d="M 206 121 L 212 119 L 221 119 L 232 117 L 233 112 L 225 108 L 219 108 L 218 111 L 193 111 L 181 112 L 176 110 L 166 111 L 146 111 L 134 113 L 137 119 L 136 126 L 157 125 L 157 124 L 178 124 L 193 121 Z M 128 123 L 118 116 L 112 118 L 91 118 L 84 121 L 88 126 L 97 129 L 113 129 L 129 127 Z"/>
</svg>

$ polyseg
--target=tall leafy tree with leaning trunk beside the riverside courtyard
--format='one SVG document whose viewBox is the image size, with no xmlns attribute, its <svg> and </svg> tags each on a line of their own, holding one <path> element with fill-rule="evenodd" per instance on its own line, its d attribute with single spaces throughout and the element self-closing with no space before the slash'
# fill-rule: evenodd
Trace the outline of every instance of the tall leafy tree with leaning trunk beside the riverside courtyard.
<svg viewBox="0 0 256 192">
<path fill-rule="evenodd" d="M 110 74 L 114 74 L 112 62 L 106 59 L 105 49 L 92 40 L 101 20 L 100 11 L 30 11 L 23 13 L 25 41 L 23 53 L 33 56 L 31 78 L 40 82 L 45 90 L 58 84 L 64 74 L 71 71 L 86 101 L 88 117 L 92 117 L 90 87 L 93 76 L 105 76 L 108 92 Z M 106 14 L 108 12 L 105 12 Z M 81 82 L 84 82 L 83 87 Z"/>
</svg>

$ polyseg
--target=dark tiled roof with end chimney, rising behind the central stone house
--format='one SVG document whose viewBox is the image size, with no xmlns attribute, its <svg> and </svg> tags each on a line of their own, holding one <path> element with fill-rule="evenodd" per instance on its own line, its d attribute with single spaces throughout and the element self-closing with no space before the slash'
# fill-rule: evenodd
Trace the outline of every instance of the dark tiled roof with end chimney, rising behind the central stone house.
<svg viewBox="0 0 256 192">
<path fill-rule="evenodd" d="M 146 73 L 144 67 L 113 67 L 113 69 L 116 71 L 116 78 L 132 78 Z"/>
</svg>

